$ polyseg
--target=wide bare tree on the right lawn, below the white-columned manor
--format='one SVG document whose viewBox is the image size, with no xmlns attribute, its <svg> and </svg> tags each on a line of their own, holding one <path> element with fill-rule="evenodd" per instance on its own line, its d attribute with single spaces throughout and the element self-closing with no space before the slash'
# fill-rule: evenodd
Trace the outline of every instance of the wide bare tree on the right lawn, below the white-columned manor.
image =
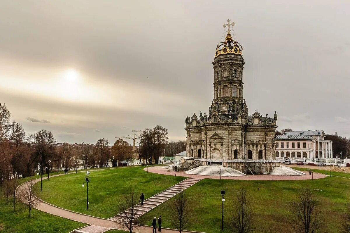
<svg viewBox="0 0 350 233">
<path fill-rule="evenodd" d="M 309 187 L 302 187 L 297 200 L 290 206 L 294 217 L 290 222 L 293 232 L 314 233 L 324 225 L 324 218 L 318 205 L 315 192 Z"/>
</svg>

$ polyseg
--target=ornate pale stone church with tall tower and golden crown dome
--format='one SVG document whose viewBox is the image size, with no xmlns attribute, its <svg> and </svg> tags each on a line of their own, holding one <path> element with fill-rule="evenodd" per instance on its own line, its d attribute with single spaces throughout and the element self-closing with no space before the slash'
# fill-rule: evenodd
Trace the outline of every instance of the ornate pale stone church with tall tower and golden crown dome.
<svg viewBox="0 0 350 233">
<path fill-rule="evenodd" d="M 227 35 L 215 50 L 213 101 L 208 115 L 186 117 L 186 157 L 216 161 L 274 160 L 277 114 L 262 116 L 257 109 L 248 115 L 243 98 L 243 48 L 232 39 L 230 20 Z"/>
</svg>

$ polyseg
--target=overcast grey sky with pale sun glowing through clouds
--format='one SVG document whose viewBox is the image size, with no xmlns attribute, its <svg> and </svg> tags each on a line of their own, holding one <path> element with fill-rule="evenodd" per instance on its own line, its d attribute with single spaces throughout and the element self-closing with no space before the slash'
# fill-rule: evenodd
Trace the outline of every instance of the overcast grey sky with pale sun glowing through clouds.
<svg viewBox="0 0 350 233">
<path fill-rule="evenodd" d="M 230 18 L 249 114 L 350 137 L 350 1 L 0 3 L 0 102 L 27 133 L 112 144 L 162 125 L 186 139 L 186 115 L 208 113 Z"/>
</svg>

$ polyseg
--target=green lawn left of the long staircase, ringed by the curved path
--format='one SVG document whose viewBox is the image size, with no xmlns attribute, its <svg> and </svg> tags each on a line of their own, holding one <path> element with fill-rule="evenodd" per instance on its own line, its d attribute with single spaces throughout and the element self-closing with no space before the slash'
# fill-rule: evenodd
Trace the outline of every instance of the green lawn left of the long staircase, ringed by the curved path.
<svg viewBox="0 0 350 233">
<path fill-rule="evenodd" d="M 141 167 L 142 168 L 142 167 Z M 147 173 L 139 167 L 119 167 L 102 171 L 90 171 L 89 209 L 86 209 L 86 185 L 84 173 L 52 177 L 43 180 L 43 191 L 39 187 L 35 194 L 50 204 L 89 214 L 100 218 L 110 218 L 117 214 L 116 206 L 124 194 L 134 189 L 144 193 L 145 198 L 184 180 L 185 177 Z"/>
</svg>

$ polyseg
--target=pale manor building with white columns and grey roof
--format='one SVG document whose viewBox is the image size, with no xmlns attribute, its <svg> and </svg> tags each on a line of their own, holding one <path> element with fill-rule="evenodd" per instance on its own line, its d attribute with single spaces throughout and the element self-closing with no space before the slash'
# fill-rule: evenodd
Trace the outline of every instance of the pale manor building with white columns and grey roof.
<svg viewBox="0 0 350 233">
<path fill-rule="evenodd" d="M 324 140 L 323 130 L 285 132 L 276 136 L 277 158 L 333 158 L 333 141 Z"/>
</svg>

